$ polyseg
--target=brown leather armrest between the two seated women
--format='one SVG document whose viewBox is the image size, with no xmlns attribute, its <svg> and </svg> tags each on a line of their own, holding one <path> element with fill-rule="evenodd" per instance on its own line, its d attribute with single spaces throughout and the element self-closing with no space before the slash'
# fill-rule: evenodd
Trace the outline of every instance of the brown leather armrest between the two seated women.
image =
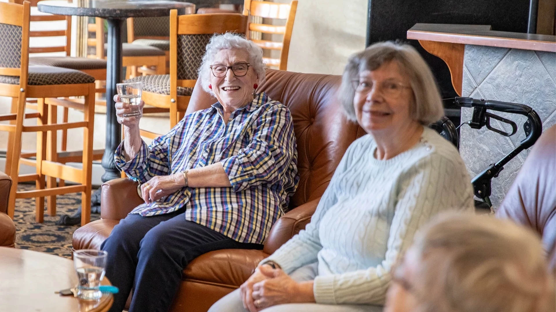
<svg viewBox="0 0 556 312">
<path fill-rule="evenodd" d="M 291 209 L 289 212 L 282 215 L 282 217 L 272 225 L 263 251 L 267 254 L 274 253 L 276 249 L 284 245 L 292 236 L 299 233 L 300 230 L 305 229 L 305 225 L 311 222 L 312 214 L 315 213 L 319 200 L 320 197 Z"/>
</svg>

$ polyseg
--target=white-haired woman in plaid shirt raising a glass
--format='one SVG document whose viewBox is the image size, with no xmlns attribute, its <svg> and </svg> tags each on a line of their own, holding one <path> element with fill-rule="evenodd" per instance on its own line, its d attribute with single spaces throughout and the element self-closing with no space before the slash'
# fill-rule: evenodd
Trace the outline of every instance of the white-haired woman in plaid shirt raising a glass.
<svg viewBox="0 0 556 312">
<path fill-rule="evenodd" d="M 110 311 L 123 310 L 131 289 L 130 311 L 167 311 L 182 269 L 197 256 L 262 249 L 299 181 L 291 114 L 255 93 L 264 78 L 259 47 L 237 34 L 215 35 L 199 79 L 218 102 L 186 115 L 148 146 L 140 117 L 124 117 L 130 107 L 116 95 L 125 140 L 115 162 L 141 183 L 145 203 L 101 246 L 108 251 L 106 276 L 120 288 Z"/>
</svg>

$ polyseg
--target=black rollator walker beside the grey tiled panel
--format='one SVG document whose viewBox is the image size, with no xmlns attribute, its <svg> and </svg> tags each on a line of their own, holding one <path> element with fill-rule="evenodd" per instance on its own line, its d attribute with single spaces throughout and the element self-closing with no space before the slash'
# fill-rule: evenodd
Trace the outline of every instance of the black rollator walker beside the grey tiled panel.
<svg viewBox="0 0 556 312">
<path fill-rule="evenodd" d="M 490 194 L 492 188 L 490 183 L 492 178 L 498 177 L 498 174 L 504 169 L 504 165 L 507 164 L 512 158 L 517 156 L 522 150 L 530 148 L 533 146 L 540 134 L 543 131 L 543 124 L 540 121 L 539 115 L 532 108 L 523 104 L 499 102 L 495 100 L 484 100 L 484 99 L 473 99 L 456 97 L 444 99 L 444 104 L 456 105 L 457 107 L 469 107 L 473 108 L 473 116 L 468 122 L 461 122 L 458 126 L 468 124 L 469 127 L 473 129 L 481 129 L 486 127 L 504 137 L 511 137 L 518 131 L 517 124 L 512 120 L 500 117 L 493 113 L 487 112 L 486 110 L 495 110 L 498 112 L 510 113 L 510 114 L 520 114 L 527 117 L 527 121 L 523 124 L 523 131 L 525 132 L 525 139 L 523 139 L 518 147 L 514 148 L 512 152 L 505 155 L 497 163 L 490 164 L 488 168 L 484 169 L 483 172 L 476 175 L 471 179 L 471 184 L 473 184 L 473 191 L 475 196 L 480 200 L 475 200 L 476 208 L 491 209 L 492 203 L 490 202 Z M 490 124 L 490 119 L 496 119 L 499 122 L 505 123 L 512 127 L 512 133 L 505 132 L 494 128 Z M 445 139 L 449 140 L 459 149 L 459 134 L 458 128 L 447 118 L 443 117 L 438 122 L 431 124 L 431 128 L 435 129 L 440 135 Z"/>
</svg>

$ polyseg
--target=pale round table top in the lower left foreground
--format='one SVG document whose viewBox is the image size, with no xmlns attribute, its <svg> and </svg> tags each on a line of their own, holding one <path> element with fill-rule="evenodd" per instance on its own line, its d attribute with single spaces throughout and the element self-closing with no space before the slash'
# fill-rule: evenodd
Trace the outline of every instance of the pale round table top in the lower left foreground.
<svg viewBox="0 0 556 312">
<path fill-rule="evenodd" d="M 112 306 L 112 294 L 97 301 L 54 294 L 77 285 L 72 260 L 8 247 L 0 247 L 0 259 L 2 311 L 104 312 Z M 110 281 L 105 277 L 101 284 L 110 285 Z"/>
</svg>

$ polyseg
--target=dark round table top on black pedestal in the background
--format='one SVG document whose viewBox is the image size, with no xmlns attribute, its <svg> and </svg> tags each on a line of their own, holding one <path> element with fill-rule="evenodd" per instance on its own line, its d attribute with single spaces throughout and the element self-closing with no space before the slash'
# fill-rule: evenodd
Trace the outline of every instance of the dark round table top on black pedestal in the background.
<svg viewBox="0 0 556 312">
<path fill-rule="evenodd" d="M 37 7 L 45 13 L 103 18 L 168 16 L 171 9 L 195 13 L 195 4 L 169 0 L 44 0 Z"/>
</svg>

